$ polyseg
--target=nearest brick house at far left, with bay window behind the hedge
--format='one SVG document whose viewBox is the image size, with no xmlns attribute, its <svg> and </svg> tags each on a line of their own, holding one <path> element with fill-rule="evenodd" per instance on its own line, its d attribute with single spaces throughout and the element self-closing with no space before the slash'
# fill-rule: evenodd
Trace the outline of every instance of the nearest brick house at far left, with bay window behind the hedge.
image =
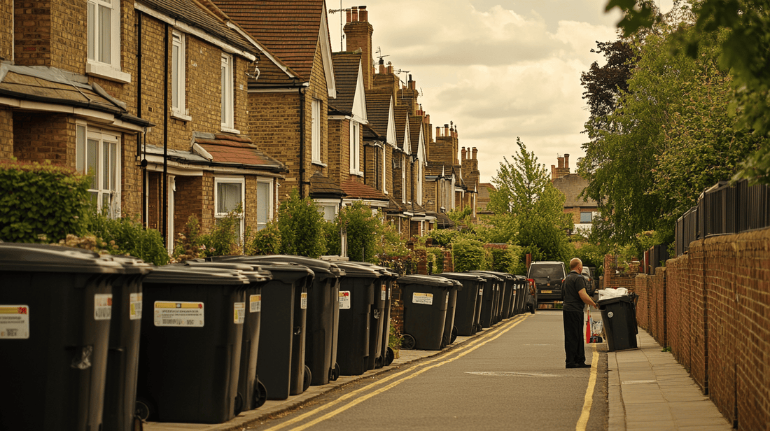
<svg viewBox="0 0 770 431">
<path fill-rule="evenodd" d="M 133 2 L 2 2 L 0 159 L 94 172 L 110 216 L 141 211 Z"/>
</svg>

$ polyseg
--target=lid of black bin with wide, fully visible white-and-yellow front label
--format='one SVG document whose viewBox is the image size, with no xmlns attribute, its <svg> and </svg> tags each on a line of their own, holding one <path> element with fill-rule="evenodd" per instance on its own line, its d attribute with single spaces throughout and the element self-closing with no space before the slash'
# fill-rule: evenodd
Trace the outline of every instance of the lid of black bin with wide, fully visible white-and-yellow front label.
<svg viewBox="0 0 770 431">
<path fill-rule="evenodd" d="M 144 280 L 147 284 L 243 285 L 250 282 L 238 269 L 187 266 L 182 263 L 159 266 Z"/>
</svg>

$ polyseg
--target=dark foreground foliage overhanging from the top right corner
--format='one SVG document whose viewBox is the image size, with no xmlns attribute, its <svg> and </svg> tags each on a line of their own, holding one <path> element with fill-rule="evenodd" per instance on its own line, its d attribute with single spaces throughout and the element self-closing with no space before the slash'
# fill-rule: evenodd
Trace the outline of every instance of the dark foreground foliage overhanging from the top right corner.
<svg viewBox="0 0 770 431">
<path fill-rule="evenodd" d="M 720 40 L 721 68 L 731 71 L 731 112 L 738 117 L 738 129 L 758 135 L 765 145 L 758 146 L 742 163 L 734 179 L 770 183 L 770 0 L 701 0 L 693 2 L 695 28 L 681 35 L 675 47 L 691 58 L 709 42 L 708 35 L 726 29 Z M 650 28 L 657 21 L 648 0 L 610 0 L 606 10 L 620 8 L 624 18 L 618 23 L 624 35 L 639 28 Z"/>
</svg>

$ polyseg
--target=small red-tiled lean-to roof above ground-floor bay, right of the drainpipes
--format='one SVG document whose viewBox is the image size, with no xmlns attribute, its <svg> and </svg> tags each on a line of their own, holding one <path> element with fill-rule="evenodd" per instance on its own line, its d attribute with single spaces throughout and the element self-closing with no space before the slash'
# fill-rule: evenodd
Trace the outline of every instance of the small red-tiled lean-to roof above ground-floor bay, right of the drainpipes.
<svg viewBox="0 0 770 431">
<path fill-rule="evenodd" d="M 275 172 L 286 171 L 283 163 L 258 149 L 248 136 L 192 132 L 192 144 L 198 144 L 206 150 L 211 156 L 210 162 L 217 165 L 239 165 L 246 169 L 256 168 Z"/>
</svg>

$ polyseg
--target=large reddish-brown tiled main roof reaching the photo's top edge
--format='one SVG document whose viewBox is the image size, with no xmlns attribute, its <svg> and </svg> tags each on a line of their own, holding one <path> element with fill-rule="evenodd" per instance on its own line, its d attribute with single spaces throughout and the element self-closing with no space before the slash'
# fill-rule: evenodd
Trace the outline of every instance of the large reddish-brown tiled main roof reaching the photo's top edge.
<svg viewBox="0 0 770 431">
<path fill-rule="evenodd" d="M 213 2 L 303 79 L 310 79 L 321 20 L 326 20 L 323 0 Z"/>
</svg>

